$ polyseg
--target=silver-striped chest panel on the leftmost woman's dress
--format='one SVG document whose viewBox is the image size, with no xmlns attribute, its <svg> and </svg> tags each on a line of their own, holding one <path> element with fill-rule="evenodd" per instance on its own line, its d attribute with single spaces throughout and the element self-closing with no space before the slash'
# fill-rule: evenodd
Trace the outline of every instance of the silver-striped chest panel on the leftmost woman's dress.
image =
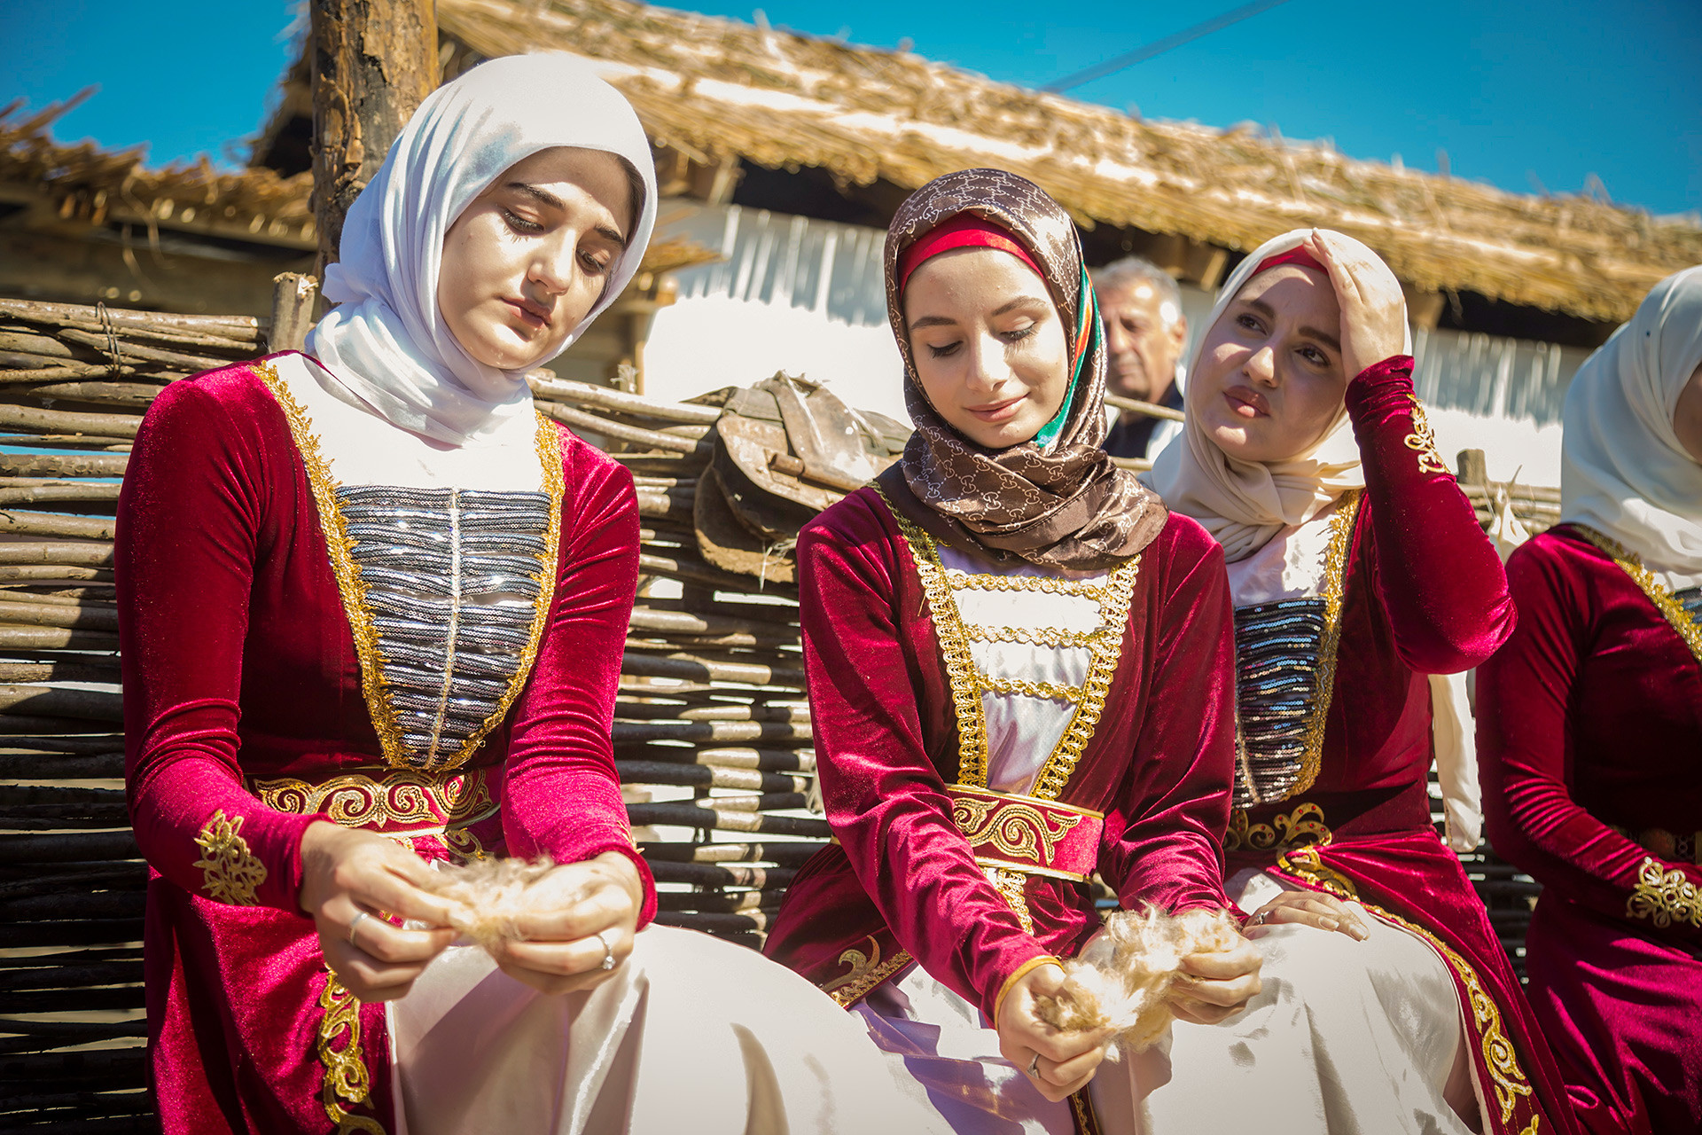
<svg viewBox="0 0 1702 1135">
<path fill-rule="evenodd" d="M 550 531 L 541 492 L 337 488 L 410 767 L 449 762 L 531 648 Z"/>
</svg>

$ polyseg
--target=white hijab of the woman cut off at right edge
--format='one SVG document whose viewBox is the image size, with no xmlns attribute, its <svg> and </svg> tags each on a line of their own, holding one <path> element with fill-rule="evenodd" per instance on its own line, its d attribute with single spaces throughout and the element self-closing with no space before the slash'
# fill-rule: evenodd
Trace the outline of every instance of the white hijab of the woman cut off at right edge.
<svg viewBox="0 0 1702 1135">
<path fill-rule="evenodd" d="M 1656 572 L 1702 570 L 1702 465 L 1673 432 L 1702 362 L 1702 265 L 1656 284 L 1566 393 L 1561 521 L 1588 524 Z"/>
</svg>

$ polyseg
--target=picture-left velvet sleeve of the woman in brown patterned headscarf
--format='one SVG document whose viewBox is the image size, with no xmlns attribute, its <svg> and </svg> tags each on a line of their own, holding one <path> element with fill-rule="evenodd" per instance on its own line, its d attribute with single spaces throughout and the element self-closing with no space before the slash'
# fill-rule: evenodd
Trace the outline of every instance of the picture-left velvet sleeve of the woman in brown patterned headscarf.
<svg viewBox="0 0 1702 1135">
<path fill-rule="evenodd" d="M 951 822 L 922 744 L 894 611 L 895 563 L 871 514 L 863 539 L 798 539 L 803 659 L 827 822 L 899 944 L 994 1016 L 1004 982 L 1050 951 L 1023 931 Z"/>
</svg>

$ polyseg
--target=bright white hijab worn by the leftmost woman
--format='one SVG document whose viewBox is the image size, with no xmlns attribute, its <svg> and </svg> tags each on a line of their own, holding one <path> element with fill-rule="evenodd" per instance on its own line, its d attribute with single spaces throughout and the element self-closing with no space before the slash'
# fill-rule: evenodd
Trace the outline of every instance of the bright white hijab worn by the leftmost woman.
<svg viewBox="0 0 1702 1135">
<path fill-rule="evenodd" d="M 335 306 L 308 354 L 393 425 L 453 446 L 533 415 L 523 371 L 478 362 L 437 311 L 443 240 L 516 162 L 551 146 L 604 150 L 643 179 L 643 209 L 572 344 L 638 271 L 655 225 L 655 165 L 638 116 L 563 51 L 490 60 L 434 90 L 408 119 L 344 223 L 325 271 Z M 563 349 L 567 347 L 563 344 Z"/>
</svg>

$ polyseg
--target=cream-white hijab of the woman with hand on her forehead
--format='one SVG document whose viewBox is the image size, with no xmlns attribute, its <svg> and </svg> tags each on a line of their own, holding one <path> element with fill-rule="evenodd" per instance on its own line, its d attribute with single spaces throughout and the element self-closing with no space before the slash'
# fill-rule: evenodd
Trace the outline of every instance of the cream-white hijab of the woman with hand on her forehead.
<svg viewBox="0 0 1702 1135">
<path fill-rule="evenodd" d="M 1188 362 L 1190 374 L 1200 364 L 1200 352 L 1224 317 L 1224 310 L 1253 279 L 1258 267 L 1273 255 L 1299 248 L 1311 235 L 1309 228 L 1283 233 L 1254 248 L 1246 260 L 1236 265 L 1236 271 L 1217 291 L 1217 303 L 1212 305 L 1205 332 L 1195 344 L 1193 359 Z M 1341 233 L 1331 233 L 1331 237 L 1353 245 L 1367 257 L 1377 255 L 1351 237 Z M 1406 352 L 1411 354 L 1411 330 L 1408 330 L 1406 340 Z M 1193 390 L 1195 385 L 1190 383 L 1190 400 Z M 1205 432 L 1198 415 L 1190 412 L 1181 427 L 1181 439 L 1171 442 L 1159 454 L 1152 471 L 1142 480 L 1164 499 L 1171 510 L 1200 521 L 1205 531 L 1212 533 L 1224 546 L 1224 558 L 1231 563 L 1248 558 L 1282 529 L 1311 521 L 1346 490 L 1365 485 L 1365 475 L 1360 471 L 1360 448 L 1353 439 L 1353 425 L 1348 422 L 1346 402 L 1336 410 L 1334 420 L 1317 444 L 1287 461 L 1271 463 L 1231 458 Z"/>
</svg>

